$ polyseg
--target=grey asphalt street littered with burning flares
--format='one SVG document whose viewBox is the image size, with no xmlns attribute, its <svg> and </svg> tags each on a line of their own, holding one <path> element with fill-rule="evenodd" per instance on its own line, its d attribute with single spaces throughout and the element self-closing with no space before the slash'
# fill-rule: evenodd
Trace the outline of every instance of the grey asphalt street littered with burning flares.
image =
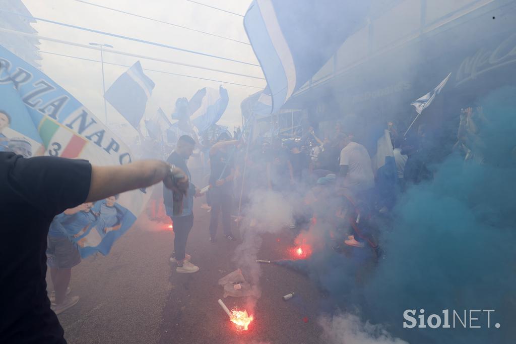
<svg viewBox="0 0 516 344">
<path fill-rule="evenodd" d="M 80 301 L 59 315 L 70 343 L 320 343 L 317 324 L 323 297 L 310 280 L 276 265 L 263 265 L 262 296 L 248 331 L 238 331 L 217 303 L 218 279 L 232 272 L 237 242 L 208 242 L 209 213 L 196 204 L 187 252 L 200 267 L 179 274 L 169 256 L 173 232 L 167 225 L 139 219 L 112 248 L 72 270 L 71 295 Z M 234 223 L 233 223 L 234 224 Z M 234 226 L 234 232 L 238 230 Z M 264 234 L 259 258 L 288 258 L 294 234 Z M 283 301 L 282 295 L 295 297 Z M 230 309 L 246 309 L 245 298 L 224 299 Z"/>
</svg>

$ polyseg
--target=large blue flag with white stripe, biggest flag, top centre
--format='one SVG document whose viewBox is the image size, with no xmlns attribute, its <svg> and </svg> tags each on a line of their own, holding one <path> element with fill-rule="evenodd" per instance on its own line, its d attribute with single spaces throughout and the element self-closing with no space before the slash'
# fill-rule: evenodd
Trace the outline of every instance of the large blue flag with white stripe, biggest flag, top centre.
<svg viewBox="0 0 516 344">
<path fill-rule="evenodd" d="M 281 106 L 365 23 L 370 0 L 253 0 L 244 26 Z"/>
</svg>

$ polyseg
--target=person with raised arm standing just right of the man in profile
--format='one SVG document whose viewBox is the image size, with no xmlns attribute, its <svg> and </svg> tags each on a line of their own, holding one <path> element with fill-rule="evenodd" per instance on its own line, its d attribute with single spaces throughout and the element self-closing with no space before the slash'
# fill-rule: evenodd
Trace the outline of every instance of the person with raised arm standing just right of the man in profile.
<svg viewBox="0 0 516 344">
<path fill-rule="evenodd" d="M 218 142 L 209 150 L 211 174 L 209 175 L 209 201 L 212 210 L 209 217 L 209 242 L 215 243 L 219 212 L 222 214 L 222 230 L 224 236 L 231 241 L 235 238 L 231 233 L 231 206 L 233 203 L 233 185 L 235 176 L 231 147 L 236 146 L 238 140 L 230 140 L 228 134 L 222 133 Z M 235 149 L 235 148 L 234 148 Z"/>
</svg>

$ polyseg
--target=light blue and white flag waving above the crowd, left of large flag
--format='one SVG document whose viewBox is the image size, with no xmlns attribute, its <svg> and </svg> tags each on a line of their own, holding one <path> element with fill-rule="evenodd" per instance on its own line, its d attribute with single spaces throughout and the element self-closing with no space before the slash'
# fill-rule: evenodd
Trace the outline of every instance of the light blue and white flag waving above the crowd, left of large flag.
<svg viewBox="0 0 516 344">
<path fill-rule="evenodd" d="M 192 113 L 190 118 L 199 133 L 202 133 L 217 123 L 220 117 L 222 117 L 226 107 L 228 107 L 229 95 L 228 90 L 222 86 L 218 90 L 205 87 L 199 90 L 196 95 L 198 93 L 204 96 L 200 101 L 199 107 Z"/>
</svg>

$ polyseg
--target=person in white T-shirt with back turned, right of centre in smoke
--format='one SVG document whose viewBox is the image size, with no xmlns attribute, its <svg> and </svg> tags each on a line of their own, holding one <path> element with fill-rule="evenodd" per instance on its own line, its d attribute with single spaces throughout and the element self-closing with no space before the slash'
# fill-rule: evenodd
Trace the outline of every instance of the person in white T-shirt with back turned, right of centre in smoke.
<svg viewBox="0 0 516 344">
<path fill-rule="evenodd" d="M 369 213 L 370 191 L 375 186 L 371 158 L 364 146 L 353 142 L 353 135 L 340 134 L 337 138 L 342 148 L 339 171 L 339 178 L 341 179 L 340 191 L 343 195 L 352 199 L 362 220 L 365 220 Z M 359 219 L 360 217 L 357 217 L 356 224 L 358 224 Z M 354 228 L 353 235 L 349 236 L 344 243 L 349 246 L 364 247 L 361 236 L 363 234 L 358 233 Z M 367 241 L 375 249 L 378 247 L 373 240 L 367 239 Z"/>
</svg>

